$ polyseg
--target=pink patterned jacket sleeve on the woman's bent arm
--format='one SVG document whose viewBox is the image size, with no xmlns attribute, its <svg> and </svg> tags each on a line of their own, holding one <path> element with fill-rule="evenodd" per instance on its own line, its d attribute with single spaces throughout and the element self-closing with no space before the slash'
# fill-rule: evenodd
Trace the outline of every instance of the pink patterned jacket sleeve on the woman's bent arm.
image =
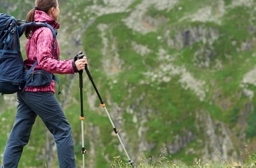
<svg viewBox="0 0 256 168">
<path fill-rule="evenodd" d="M 43 28 L 42 32 L 38 34 L 36 42 L 36 58 L 38 60 L 38 67 L 49 73 L 58 74 L 74 74 L 73 59 L 70 60 L 56 60 L 52 56 L 53 47 L 53 33 L 49 28 Z M 55 48 L 56 50 L 56 48 Z"/>
</svg>

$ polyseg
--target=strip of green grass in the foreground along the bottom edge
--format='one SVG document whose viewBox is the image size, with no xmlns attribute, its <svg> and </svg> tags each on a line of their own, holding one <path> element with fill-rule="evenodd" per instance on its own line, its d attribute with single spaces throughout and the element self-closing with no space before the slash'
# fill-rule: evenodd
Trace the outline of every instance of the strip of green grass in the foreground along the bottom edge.
<svg viewBox="0 0 256 168">
<path fill-rule="evenodd" d="M 158 155 L 158 157 L 141 157 L 135 163 L 129 164 L 124 162 L 121 157 L 117 156 L 114 157 L 114 161 L 110 164 L 112 168 L 130 168 L 130 167 L 141 167 L 141 168 L 192 168 L 192 167 L 199 167 L 199 168 L 227 168 L 227 167 L 252 167 L 255 165 L 256 157 L 255 154 L 247 156 L 249 160 L 245 163 L 240 163 L 239 161 L 224 161 L 220 157 L 220 152 L 216 151 L 214 158 L 208 161 L 201 161 L 201 159 L 196 159 L 192 163 L 188 164 L 185 161 L 173 159 L 171 155 L 166 153 L 166 149 Z M 195 158 L 195 156 L 194 156 Z"/>
</svg>

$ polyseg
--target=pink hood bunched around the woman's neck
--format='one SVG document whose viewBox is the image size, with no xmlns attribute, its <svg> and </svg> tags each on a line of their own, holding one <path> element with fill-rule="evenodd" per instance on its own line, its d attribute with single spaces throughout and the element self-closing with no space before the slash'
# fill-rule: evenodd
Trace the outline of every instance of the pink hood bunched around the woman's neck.
<svg viewBox="0 0 256 168">
<path fill-rule="evenodd" d="M 47 13 L 44 11 L 36 10 L 34 13 L 34 21 L 35 22 L 46 22 L 53 26 L 55 30 L 59 28 L 59 23 L 56 22 L 53 18 L 51 18 Z"/>
</svg>

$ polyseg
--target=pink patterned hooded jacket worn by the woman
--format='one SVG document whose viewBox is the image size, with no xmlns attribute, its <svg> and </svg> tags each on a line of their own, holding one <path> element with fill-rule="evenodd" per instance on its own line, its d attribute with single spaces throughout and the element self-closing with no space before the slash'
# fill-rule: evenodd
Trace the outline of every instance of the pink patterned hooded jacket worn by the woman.
<svg viewBox="0 0 256 168">
<path fill-rule="evenodd" d="M 55 30 L 59 28 L 59 24 L 55 22 L 44 11 L 35 11 L 34 21 L 46 22 L 53 26 Z M 31 39 L 26 42 L 27 59 L 24 60 L 26 67 L 29 69 L 34 62 L 38 60 L 38 65 L 34 70 L 42 69 L 51 74 L 74 74 L 73 59 L 59 60 L 59 46 L 55 40 L 55 50 L 52 54 L 53 33 L 49 28 L 38 28 Z M 26 91 L 50 91 L 55 93 L 55 82 L 52 80 L 51 85 L 45 87 L 27 87 Z"/>
</svg>

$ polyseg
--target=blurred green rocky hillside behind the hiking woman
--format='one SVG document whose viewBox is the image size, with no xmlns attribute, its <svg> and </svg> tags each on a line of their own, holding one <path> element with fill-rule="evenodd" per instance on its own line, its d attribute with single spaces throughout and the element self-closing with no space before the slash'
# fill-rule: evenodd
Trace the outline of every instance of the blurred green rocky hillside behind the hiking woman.
<svg viewBox="0 0 256 168">
<path fill-rule="evenodd" d="M 255 149 L 256 1 L 59 1 L 61 58 L 86 52 L 89 69 L 133 161 L 246 162 Z M 24 19 L 33 1 L 0 2 Z M 24 46 L 25 39 L 21 39 Z M 24 47 L 23 47 L 24 52 Z M 23 54 L 25 58 L 25 54 Z M 58 75 L 56 95 L 82 165 L 78 75 Z M 15 116 L 15 95 L 0 97 L 0 154 Z M 84 72 L 87 167 L 127 158 Z M 58 167 L 52 136 L 37 118 L 20 167 Z"/>
</svg>

